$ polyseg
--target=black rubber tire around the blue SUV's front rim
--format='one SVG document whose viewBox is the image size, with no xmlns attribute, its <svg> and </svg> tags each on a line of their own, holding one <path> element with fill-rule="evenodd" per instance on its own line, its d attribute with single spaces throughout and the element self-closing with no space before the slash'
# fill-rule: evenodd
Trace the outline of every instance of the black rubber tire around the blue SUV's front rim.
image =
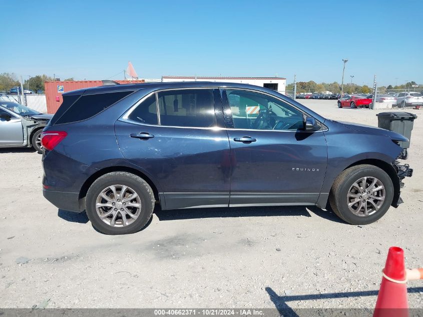
<svg viewBox="0 0 423 317">
<path fill-rule="evenodd" d="M 358 216 L 352 213 L 347 205 L 347 193 L 354 182 L 362 177 L 375 177 L 385 188 L 385 200 L 380 208 L 368 216 Z M 329 203 L 334 213 L 350 224 L 369 224 L 379 220 L 389 209 L 393 199 L 393 185 L 389 175 L 373 165 L 356 165 L 344 170 L 335 179 L 329 193 Z"/>
</svg>

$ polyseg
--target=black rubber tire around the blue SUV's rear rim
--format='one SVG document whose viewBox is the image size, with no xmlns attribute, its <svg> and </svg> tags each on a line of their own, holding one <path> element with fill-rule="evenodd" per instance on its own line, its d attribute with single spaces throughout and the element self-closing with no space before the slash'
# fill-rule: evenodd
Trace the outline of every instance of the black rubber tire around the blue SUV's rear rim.
<svg viewBox="0 0 423 317">
<path fill-rule="evenodd" d="M 141 199 L 141 212 L 131 224 L 122 227 L 111 226 L 103 220 L 96 211 L 96 200 L 99 194 L 108 186 L 125 185 L 132 188 Z M 150 220 L 154 209 L 154 193 L 150 185 L 141 177 L 128 172 L 111 172 L 99 177 L 88 189 L 86 197 L 86 212 L 93 226 L 105 234 L 129 234 L 141 230 Z"/>
</svg>

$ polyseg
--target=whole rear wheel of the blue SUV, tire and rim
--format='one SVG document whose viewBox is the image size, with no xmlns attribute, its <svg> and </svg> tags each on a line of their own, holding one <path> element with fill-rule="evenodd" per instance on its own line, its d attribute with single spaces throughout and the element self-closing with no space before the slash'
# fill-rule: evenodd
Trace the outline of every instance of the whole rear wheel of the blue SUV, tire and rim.
<svg viewBox="0 0 423 317">
<path fill-rule="evenodd" d="M 90 186 L 86 211 L 100 232 L 128 234 L 147 224 L 154 202 L 153 190 L 144 179 L 128 172 L 112 172 Z"/>
</svg>

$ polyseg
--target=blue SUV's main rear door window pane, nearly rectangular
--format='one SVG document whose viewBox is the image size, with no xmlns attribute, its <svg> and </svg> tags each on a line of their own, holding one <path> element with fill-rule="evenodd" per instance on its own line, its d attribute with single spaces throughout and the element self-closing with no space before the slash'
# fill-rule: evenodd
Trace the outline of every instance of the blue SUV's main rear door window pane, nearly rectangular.
<svg viewBox="0 0 423 317">
<path fill-rule="evenodd" d="M 216 125 L 211 89 L 184 89 L 158 93 L 160 124 L 208 128 Z"/>
</svg>

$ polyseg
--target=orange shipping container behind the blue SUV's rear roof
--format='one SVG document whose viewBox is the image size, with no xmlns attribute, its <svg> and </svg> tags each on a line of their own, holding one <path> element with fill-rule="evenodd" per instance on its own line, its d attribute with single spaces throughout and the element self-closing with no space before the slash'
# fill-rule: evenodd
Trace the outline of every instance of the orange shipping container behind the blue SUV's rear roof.
<svg viewBox="0 0 423 317">
<path fill-rule="evenodd" d="M 143 84 L 144 80 L 115 80 L 119 84 Z M 81 80 L 72 82 L 45 82 L 44 89 L 46 91 L 47 112 L 56 113 L 59 106 L 63 102 L 63 93 L 68 91 L 103 86 L 101 80 Z"/>
</svg>

